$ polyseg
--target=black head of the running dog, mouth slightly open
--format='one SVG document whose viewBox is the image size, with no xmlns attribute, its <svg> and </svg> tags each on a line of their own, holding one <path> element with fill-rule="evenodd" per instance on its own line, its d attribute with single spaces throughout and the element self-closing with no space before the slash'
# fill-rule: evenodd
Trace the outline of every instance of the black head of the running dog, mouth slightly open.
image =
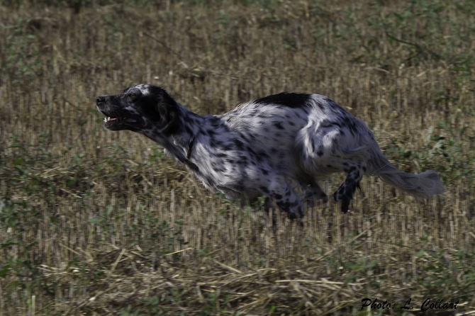
<svg viewBox="0 0 475 316">
<path fill-rule="evenodd" d="M 107 130 L 155 129 L 171 134 L 179 124 L 179 106 L 160 86 L 138 84 L 112 96 L 96 98 L 98 110 L 106 115 L 104 128 Z"/>
</svg>

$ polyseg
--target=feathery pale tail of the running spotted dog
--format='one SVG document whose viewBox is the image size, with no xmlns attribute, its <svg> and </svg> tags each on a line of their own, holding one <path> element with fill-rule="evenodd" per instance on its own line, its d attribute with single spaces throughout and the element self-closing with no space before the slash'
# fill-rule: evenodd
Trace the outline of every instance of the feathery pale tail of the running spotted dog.
<svg viewBox="0 0 475 316">
<path fill-rule="evenodd" d="M 367 162 L 369 174 L 379 176 L 391 186 L 418 198 L 428 198 L 445 192 L 445 187 L 435 171 L 408 174 L 394 167 L 378 146 L 370 148 L 370 157 Z"/>
</svg>

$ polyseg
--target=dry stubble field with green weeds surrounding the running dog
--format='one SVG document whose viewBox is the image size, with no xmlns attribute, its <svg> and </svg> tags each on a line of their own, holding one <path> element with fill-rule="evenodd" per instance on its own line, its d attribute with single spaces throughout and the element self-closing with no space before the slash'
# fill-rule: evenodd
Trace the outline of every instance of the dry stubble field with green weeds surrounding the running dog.
<svg viewBox="0 0 475 316">
<path fill-rule="evenodd" d="M 0 315 L 468 315 L 474 52 L 474 1 L 0 1 Z M 138 83 L 201 115 L 324 94 L 447 193 L 367 177 L 274 230 L 102 128 L 95 97 Z"/>
</svg>

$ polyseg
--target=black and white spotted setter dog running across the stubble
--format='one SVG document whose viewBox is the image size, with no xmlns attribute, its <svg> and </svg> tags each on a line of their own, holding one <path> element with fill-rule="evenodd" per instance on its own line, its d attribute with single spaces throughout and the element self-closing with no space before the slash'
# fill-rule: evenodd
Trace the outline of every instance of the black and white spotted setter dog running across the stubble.
<svg viewBox="0 0 475 316">
<path fill-rule="evenodd" d="M 421 198 L 445 190 L 434 171 L 396 169 L 362 120 L 319 94 L 276 94 L 200 116 L 160 86 L 139 84 L 99 96 L 96 106 L 106 115 L 104 128 L 155 140 L 206 188 L 242 201 L 267 196 L 292 219 L 304 215 L 296 186 L 306 198 L 328 201 L 316 181 L 337 171 L 347 176 L 333 194 L 344 213 L 364 174 Z"/>
</svg>

